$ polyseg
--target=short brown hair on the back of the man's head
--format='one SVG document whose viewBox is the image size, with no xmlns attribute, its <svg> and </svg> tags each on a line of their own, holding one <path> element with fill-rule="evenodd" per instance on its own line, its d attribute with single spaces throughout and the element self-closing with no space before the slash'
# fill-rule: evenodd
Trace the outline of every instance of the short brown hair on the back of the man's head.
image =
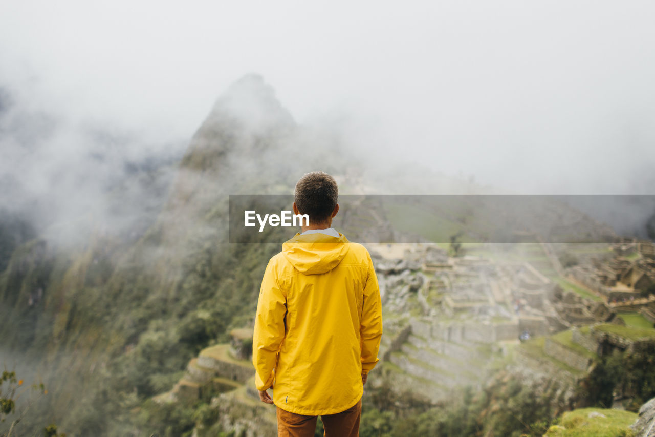
<svg viewBox="0 0 655 437">
<path fill-rule="evenodd" d="M 298 211 L 309 215 L 311 222 L 318 223 L 332 215 L 338 198 L 337 181 L 322 171 L 305 173 L 295 184 L 293 192 L 293 201 Z"/>
</svg>

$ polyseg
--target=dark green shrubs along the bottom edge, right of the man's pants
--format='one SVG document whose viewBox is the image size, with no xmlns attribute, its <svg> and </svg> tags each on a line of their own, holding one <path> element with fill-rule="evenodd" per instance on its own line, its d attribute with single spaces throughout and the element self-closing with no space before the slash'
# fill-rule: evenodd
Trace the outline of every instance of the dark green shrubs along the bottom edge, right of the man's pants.
<svg viewBox="0 0 655 437">
<path fill-rule="evenodd" d="M 365 393 L 362 437 L 541 437 L 563 409 L 557 381 L 521 381 L 500 372 L 479 392 L 455 390 L 438 404 L 409 391 L 394 392 L 389 374 Z"/>
</svg>

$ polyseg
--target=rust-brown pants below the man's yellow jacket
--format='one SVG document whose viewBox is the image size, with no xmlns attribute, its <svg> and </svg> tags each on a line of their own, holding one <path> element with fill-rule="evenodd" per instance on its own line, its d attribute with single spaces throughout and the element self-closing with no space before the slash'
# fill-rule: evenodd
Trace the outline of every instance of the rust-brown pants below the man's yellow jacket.
<svg viewBox="0 0 655 437">
<path fill-rule="evenodd" d="M 278 437 L 314 437 L 316 418 L 290 413 L 277 407 Z M 357 404 L 336 414 L 321 416 L 326 437 L 359 437 L 360 417 L 362 417 L 362 400 Z"/>
</svg>

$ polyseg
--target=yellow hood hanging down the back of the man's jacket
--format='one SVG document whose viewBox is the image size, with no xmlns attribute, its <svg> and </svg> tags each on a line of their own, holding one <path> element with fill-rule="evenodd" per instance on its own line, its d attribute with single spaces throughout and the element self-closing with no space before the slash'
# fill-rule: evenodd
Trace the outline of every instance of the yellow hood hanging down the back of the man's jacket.
<svg viewBox="0 0 655 437">
<path fill-rule="evenodd" d="M 326 273 L 339 265 L 350 245 L 348 239 L 326 234 L 295 234 L 282 244 L 284 257 L 299 272 L 306 275 Z"/>
</svg>

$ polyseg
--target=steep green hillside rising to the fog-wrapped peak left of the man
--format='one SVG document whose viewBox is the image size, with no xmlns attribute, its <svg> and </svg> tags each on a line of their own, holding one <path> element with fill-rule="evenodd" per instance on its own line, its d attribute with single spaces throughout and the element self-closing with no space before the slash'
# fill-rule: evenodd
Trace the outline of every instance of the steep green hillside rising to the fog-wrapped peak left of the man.
<svg viewBox="0 0 655 437">
<path fill-rule="evenodd" d="M 26 353 L 52 394 L 25 432 L 52 420 L 69 435 L 136 430 L 129 408 L 168 390 L 200 348 L 252 318 L 277 247 L 227 242 L 227 196 L 293 186 L 303 171 L 294 135 L 271 87 L 244 77 L 196 132 L 138 241 L 98 230 L 73 250 L 39 238 L 13 251 L 0 276 L 10 314 L 0 346 Z"/>
</svg>

